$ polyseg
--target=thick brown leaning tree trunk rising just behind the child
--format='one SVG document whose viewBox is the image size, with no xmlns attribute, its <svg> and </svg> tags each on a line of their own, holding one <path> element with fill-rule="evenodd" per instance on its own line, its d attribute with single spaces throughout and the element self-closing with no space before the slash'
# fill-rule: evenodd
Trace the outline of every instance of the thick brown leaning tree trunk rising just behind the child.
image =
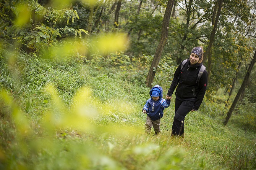
<svg viewBox="0 0 256 170">
<path fill-rule="evenodd" d="M 149 69 L 149 73 L 147 74 L 147 79 L 146 79 L 147 87 L 152 87 L 152 83 L 156 74 L 156 69 L 161 59 L 161 54 L 168 38 L 169 21 L 170 21 L 174 1 L 175 0 L 168 0 L 167 6 L 166 6 L 163 24 L 162 24 L 162 33 L 161 33 L 160 42 L 157 46 L 155 56 L 153 58 L 151 67 Z"/>
</svg>

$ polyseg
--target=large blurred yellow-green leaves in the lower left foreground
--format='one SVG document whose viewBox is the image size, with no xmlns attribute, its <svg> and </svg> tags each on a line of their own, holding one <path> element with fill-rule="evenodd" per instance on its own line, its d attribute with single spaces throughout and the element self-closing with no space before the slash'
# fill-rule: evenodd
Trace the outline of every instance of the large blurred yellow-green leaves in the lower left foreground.
<svg viewBox="0 0 256 170">
<path fill-rule="evenodd" d="M 79 166 L 81 166 L 80 168 L 91 167 L 94 166 L 92 160 L 96 161 L 95 164 L 106 164 L 106 166 L 110 166 L 109 169 L 118 169 L 118 165 L 115 165 L 115 161 L 104 156 L 103 151 L 100 151 L 100 149 L 94 145 L 93 140 L 88 137 L 94 139 L 94 137 L 104 136 L 104 134 L 113 135 L 113 137 L 116 135 L 127 137 L 130 135 L 136 136 L 137 133 L 141 133 L 141 129 L 125 124 L 123 121 L 97 124 L 99 117 L 111 115 L 115 112 L 131 114 L 131 112 L 134 111 L 132 110 L 133 108 L 122 102 L 117 105 L 104 105 L 92 97 L 91 91 L 87 87 L 81 87 L 79 89 L 73 98 L 73 106 L 67 108 L 59 99 L 55 87 L 51 84 L 45 86 L 44 91 L 49 95 L 50 102 L 47 104 L 50 104 L 51 107 L 43 113 L 42 119 L 37 123 L 37 126 L 35 126 L 35 123 L 15 104 L 15 100 L 13 100 L 5 90 L 1 90 L 1 107 L 8 107 L 9 110 L 1 114 L 10 113 L 10 121 L 13 122 L 13 127 L 8 128 L 14 128 L 15 130 L 15 140 L 6 141 L 10 144 L 8 147 L 11 148 L 2 148 L 4 151 L 1 151 L 2 149 L 0 150 L 1 163 L 5 163 L 6 165 L 7 162 L 5 161 L 12 161 L 9 157 L 11 155 L 8 155 L 10 154 L 8 150 L 11 149 L 11 152 L 13 152 L 18 159 L 26 159 L 32 162 L 40 162 L 40 160 L 34 157 L 49 154 L 49 158 L 53 159 L 51 161 L 57 159 L 55 161 L 60 163 L 59 165 L 49 165 L 53 166 L 50 167 L 50 169 L 65 168 L 67 165 L 69 167 L 68 169 L 76 169 Z M 66 143 L 65 141 L 68 142 Z M 13 159 L 16 159 L 15 157 Z M 46 160 L 43 160 L 41 164 L 48 166 L 47 162 L 44 162 L 50 161 L 47 160 L 48 157 L 43 156 L 42 159 Z M 62 159 L 65 161 L 62 162 Z M 76 162 L 74 162 L 74 164 L 76 164 L 75 166 L 71 164 L 70 159 Z M 13 163 L 21 163 L 22 165 L 20 166 L 24 169 L 32 168 L 28 165 L 24 165 L 24 162 L 19 161 L 21 160 L 15 160 Z M 9 165 L 14 166 L 13 164 Z M 8 166 L 5 168 L 12 169 Z M 44 168 L 49 169 L 49 167 Z M 44 168 L 40 167 L 39 169 Z"/>
</svg>

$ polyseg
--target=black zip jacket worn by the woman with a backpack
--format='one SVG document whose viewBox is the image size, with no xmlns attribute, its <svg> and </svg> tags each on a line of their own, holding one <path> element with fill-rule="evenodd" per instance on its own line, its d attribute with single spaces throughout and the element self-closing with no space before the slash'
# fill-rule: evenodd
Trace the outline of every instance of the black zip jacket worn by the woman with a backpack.
<svg viewBox="0 0 256 170">
<path fill-rule="evenodd" d="M 180 75 L 180 81 L 178 83 L 177 90 L 175 92 L 176 97 L 180 100 L 190 100 L 195 102 L 193 110 L 198 110 L 199 106 L 203 102 L 204 94 L 207 88 L 207 71 L 204 70 L 200 81 L 197 83 L 198 73 L 203 64 L 196 64 L 190 66 L 190 60 L 188 59 L 184 67 L 181 69 L 181 64 L 178 66 L 174 73 L 172 84 L 168 90 L 167 95 L 172 96 L 175 90 L 178 76 Z"/>
</svg>

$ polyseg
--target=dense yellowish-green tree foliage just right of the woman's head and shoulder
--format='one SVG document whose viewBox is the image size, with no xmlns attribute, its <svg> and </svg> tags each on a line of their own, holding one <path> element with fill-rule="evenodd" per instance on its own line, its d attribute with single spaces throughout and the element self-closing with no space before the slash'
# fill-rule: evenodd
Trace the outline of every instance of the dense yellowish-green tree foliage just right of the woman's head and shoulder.
<svg viewBox="0 0 256 170">
<path fill-rule="evenodd" d="M 210 91 L 214 92 L 221 87 L 230 87 L 235 77 L 240 62 L 248 60 L 252 52 L 248 39 L 237 35 L 233 31 L 232 25 L 226 25 L 227 33 L 218 32 L 217 40 L 212 52 L 211 80 L 209 82 Z M 221 38 L 220 38 L 221 37 Z M 225 41 L 222 40 L 225 39 Z"/>
</svg>

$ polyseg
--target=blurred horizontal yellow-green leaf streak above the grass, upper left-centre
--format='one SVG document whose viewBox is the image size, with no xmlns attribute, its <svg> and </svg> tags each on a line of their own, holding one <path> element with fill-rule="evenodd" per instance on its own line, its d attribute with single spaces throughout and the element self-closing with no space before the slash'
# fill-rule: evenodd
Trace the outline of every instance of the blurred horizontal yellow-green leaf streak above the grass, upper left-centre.
<svg viewBox="0 0 256 170">
<path fill-rule="evenodd" d="M 81 34 L 78 30 L 75 34 Z M 125 51 L 128 48 L 128 39 L 123 33 L 108 33 L 97 36 L 91 35 L 85 39 L 56 43 L 54 46 L 42 48 L 39 51 L 45 59 L 63 58 L 69 56 L 87 56 L 92 54 L 108 55 L 116 51 Z"/>
</svg>

